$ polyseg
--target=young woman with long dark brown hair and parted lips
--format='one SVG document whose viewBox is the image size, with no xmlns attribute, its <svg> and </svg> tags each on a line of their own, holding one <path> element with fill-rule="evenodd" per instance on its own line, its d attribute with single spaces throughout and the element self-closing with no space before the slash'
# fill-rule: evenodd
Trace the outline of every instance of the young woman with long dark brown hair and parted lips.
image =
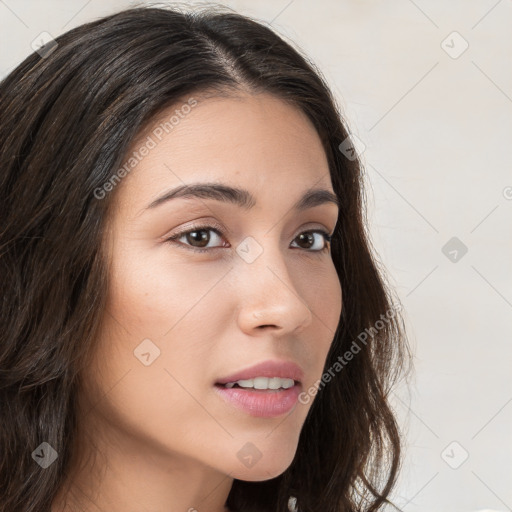
<svg viewBox="0 0 512 512">
<path fill-rule="evenodd" d="M 0 510 L 381 510 L 408 361 L 325 81 L 135 8 L 0 84 Z"/>
</svg>

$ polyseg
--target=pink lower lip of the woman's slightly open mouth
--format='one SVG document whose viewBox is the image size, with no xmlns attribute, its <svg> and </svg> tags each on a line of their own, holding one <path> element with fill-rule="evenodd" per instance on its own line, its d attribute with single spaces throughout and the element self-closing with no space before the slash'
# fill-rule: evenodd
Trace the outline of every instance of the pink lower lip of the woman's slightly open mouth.
<svg viewBox="0 0 512 512">
<path fill-rule="evenodd" d="M 279 391 L 226 388 L 219 385 L 215 385 L 215 389 L 228 403 L 258 418 L 276 418 L 290 412 L 300 394 L 300 384 Z"/>
</svg>

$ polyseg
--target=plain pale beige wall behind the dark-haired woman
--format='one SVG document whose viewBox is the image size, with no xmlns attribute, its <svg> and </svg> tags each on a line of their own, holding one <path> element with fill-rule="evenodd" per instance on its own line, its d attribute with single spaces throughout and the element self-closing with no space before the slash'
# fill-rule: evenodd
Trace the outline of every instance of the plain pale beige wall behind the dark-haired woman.
<svg viewBox="0 0 512 512">
<path fill-rule="evenodd" d="M 0 0 L 0 76 L 41 32 L 133 3 Z M 407 433 L 397 504 L 512 510 L 512 1 L 222 3 L 310 55 L 366 145 L 372 238 L 416 354 L 393 397 Z M 456 262 L 452 237 L 468 249 L 445 250 Z"/>
</svg>

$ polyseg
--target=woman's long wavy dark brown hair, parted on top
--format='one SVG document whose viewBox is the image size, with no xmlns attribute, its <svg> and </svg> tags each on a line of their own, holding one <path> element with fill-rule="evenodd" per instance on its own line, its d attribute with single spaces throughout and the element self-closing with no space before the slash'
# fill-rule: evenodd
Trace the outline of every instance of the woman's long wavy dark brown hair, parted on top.
<svg viewBox="0 0 512 512">
<path fill-rule="evenodd" d="M 344 301 L 326 363 L 336 374 L 315 396 L 292 464 L 271 480 L 235 480 L 227 505 L 389 503 L 401 435 L 388 399 L 411 361 L 369 241 L 361 163 L 339 149 L 349 134 L 335 99 L 301 51 L 261 23 L 219 7 L 138 7 L 59 36 L 0 83 L 1 512 L 49 512 L 73 457 L 76 396 L 108 286 L 102 240 L 116 189 L 97 190 L 178 98 L 241 88 L 291 102 L 318 131 L 341 202 L 332 258 Z M 57 454 L 45 468 L 36 458 L 53 452 L 42 443 Z"/>
</svg>

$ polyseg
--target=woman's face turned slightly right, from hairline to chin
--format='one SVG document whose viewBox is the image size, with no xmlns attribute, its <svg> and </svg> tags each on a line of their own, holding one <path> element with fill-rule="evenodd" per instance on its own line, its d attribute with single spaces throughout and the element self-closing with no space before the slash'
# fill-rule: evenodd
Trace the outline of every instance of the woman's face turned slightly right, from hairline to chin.
<svg viewBox="0 0 512 512">
<path fill-rule="evenodd" d="M 302 369 L 293 390 L 318 385 L 342 300 L 316 230 L 332 234 L 338 207 L 295 208 L 308 192 L 333 192 L 303 113 L 268 94 L 196 98 L 140 137 L 126 157 L 137 151 L 140 161 L 114 191 L 108 303 L 85 376 L 96 404 L 91 419 L 106 438 L 129 440 L 127 456 L 137 447 L 171 466 L 267 480 L 291 464 L 314 397 L 279 409 L 282 390 L 227 391 L 216 383 L 273 360 Z M 212 182 L 253 199 L 243 206 L 217 193 L 150 206 L 177 187 Z M 248 397 L 252 408 L 228 394 Z"/>
</svg>

